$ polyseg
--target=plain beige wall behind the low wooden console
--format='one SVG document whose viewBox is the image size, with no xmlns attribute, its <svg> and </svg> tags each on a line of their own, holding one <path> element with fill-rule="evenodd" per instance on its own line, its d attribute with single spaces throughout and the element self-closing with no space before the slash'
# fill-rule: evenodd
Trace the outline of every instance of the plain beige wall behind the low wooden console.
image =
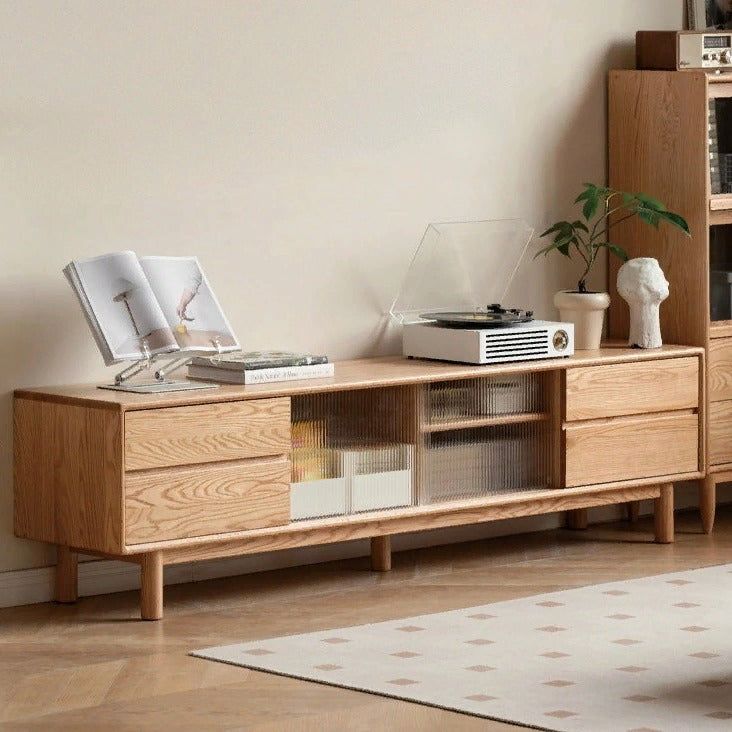
<svg viewBox="0 0 732 732">
<path fill-rule="evenodd" d="M 568 213 L 605 71 L 682 5 L 0 0 L 0 571 L 51 559 L 12 537 L 11 390 L 109 378 L 70 259 L 197 254 L 247 348 L 394 351 L 426 223 Z M 513 302 L 570 281 L 527 266 Z"/>
</svg>

